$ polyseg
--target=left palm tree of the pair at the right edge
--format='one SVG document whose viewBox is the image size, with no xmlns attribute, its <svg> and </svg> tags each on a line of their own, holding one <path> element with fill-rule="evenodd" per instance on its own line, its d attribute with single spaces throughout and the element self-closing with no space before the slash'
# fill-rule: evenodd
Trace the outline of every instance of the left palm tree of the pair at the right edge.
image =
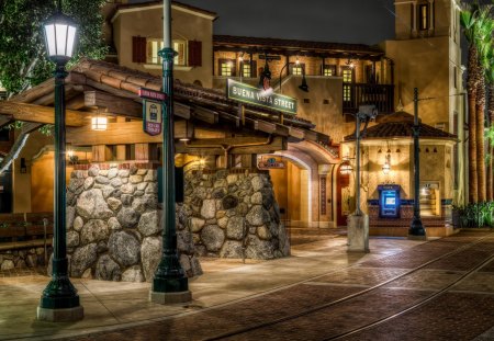
<svg viewBox="0 0 494 341">
<path fill-rule="evenodd" d="M 479 82 L 479 53 L 475 45 L 476 13 L 472 4 L 460 13 L 463 34 L 469 43 L 468 69 L 467 69 L 467 94 L 469 98 L 469 202 L 476 203 L 478 178 L 476 178 L 476 126 L 475 126 L 475 102 Z"/>
</svg>

